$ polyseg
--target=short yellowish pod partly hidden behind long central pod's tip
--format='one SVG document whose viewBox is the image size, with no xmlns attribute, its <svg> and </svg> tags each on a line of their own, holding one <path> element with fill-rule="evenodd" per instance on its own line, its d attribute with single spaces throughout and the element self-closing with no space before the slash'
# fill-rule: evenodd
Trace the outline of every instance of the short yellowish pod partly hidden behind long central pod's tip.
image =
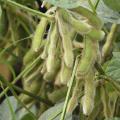
<svg viewBox="0 0 120 120">
<path fill-rule="evenodd" d="M 67 67 L 67 65 L 62 62 L 61 70 L 60 70 L 60 81 L 61 84 L 66 85 L 70 80 L 72 75 L 72 68 Z"/>
</svg>

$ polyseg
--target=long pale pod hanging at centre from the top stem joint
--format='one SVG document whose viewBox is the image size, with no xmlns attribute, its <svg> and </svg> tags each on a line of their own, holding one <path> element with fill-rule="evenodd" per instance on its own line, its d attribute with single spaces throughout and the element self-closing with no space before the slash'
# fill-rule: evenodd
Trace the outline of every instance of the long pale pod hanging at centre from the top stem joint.
<svg viewBox="0 0 120 120">
<path fill-rule="evenodd" d="M 70 37 L 72 29 L 67 23 L 65 23 L 59 11 L 57 12 L 56 19 L 58 21 L 59 33 L 62 39 L 64 61 L 67 67 L 72 68 L 74 62 L 72 39 Z"/>
</svg>

